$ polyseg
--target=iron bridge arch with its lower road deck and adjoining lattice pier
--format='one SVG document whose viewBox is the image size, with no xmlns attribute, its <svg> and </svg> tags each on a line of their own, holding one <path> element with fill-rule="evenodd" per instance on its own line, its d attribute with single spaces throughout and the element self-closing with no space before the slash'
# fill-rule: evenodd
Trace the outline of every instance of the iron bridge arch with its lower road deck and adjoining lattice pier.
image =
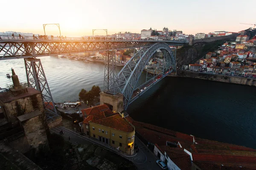
<svg viewBox="0 0 256 170">
<path fill-rule="evenodd" d="M 105 67 L 104 91 L 109 94 L 123 94 L 124 109 L 145 93 L 154 84 L 175 71 L 176 48 L 170 48 L 165 42 L 157 42 L 150 47 L 139 49 L 122 70 L 115 75 L 115 58 L 109 54 Z M 114 55 L 113 55 L 114 56 Z M 144 73 L 143 83 L 142 74 Z M 146 75 L 145 75 L 146 74 Z"/>
</svg>

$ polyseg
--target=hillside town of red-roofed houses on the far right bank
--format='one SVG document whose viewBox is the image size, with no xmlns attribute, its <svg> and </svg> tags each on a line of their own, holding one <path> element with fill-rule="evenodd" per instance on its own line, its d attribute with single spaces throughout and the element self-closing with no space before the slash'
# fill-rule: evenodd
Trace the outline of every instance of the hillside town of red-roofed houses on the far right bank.
<svg viewBox="0 0 256 170">
<path fill-rule="evenodd" d="M 250 37 L 245 31 L 239 31 L 239 34 L 236 41 L 223 43 L 215 51 L 205 54 L 198 62 L 183 65 L 182 69 L 256 78 L 256 36 L 249 40 Z"/>
</svg>

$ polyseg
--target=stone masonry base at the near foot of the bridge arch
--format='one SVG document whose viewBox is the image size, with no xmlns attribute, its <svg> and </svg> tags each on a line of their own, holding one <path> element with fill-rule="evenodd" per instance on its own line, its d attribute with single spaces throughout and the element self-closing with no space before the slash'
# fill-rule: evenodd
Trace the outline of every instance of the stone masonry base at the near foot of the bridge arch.
<svg viewBox="0 0 256 170">
<path fill-rule="evenodd" d="M 113 112 L 122 112 L 124 110 L 123 95 L 121 93 L 112 95 L 100 92 L 100 104 L 107 104 Z"/>
</svg>

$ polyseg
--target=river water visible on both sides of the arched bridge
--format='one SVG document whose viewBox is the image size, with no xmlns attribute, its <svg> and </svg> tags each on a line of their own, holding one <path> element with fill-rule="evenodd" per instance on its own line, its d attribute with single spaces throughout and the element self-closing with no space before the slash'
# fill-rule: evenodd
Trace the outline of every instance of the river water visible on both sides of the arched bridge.
<svg viewBox="0 0 256 170">
<path fill-rule="evenodd" d="M 40 57 L 55 102 L 76 101 L 81 88 L 103 88 L 104 64 Z M 15 69 L 26 82 L 23 59 L 0 61 L 0 87 Z M 120 70 L 121 68 L 117 68 Z M 166 77 L 128 107 L 141 122 L 196 137 L 256 148 L 256 88 L 222 82 Z"/>
</svg>

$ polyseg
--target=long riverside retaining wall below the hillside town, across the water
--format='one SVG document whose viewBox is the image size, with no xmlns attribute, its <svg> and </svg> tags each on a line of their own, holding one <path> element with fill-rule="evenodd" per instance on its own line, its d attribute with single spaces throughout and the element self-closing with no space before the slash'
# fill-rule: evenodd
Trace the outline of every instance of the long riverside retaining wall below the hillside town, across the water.
<svg viewBox="0 0 256 170">
<path fill-rule="evenodd" d="M 195 71 L 177 70 L 177 76 L 191 77 L 191 78 L 197 78 L 197 79 L 207 79 L 207 80 L 218 81 L 218 82 L 229 82 L 229 83 L 235 83 L 239 85 L 256 86 L 256 79 L 247 79 L 244 77 L 233 77 L 233 76 L 226 76 L 221 74 L 213 75 L 213 74 L 204 74 L 204 73 L 195 72 Z"/>
</svg>

